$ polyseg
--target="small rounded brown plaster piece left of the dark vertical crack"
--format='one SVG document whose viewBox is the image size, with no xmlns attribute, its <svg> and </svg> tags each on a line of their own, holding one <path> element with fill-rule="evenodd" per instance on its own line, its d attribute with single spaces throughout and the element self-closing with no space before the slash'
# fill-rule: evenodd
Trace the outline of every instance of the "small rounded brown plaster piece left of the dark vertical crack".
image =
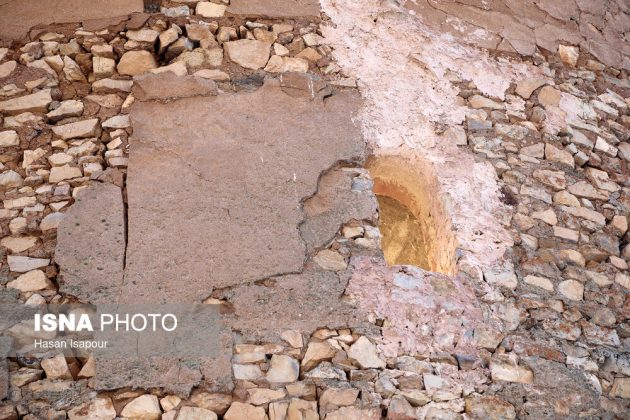
<svg viewBox="0 0 630 420">
<path fill-rule="evenodd" d="M 75 199 L 57 229 L 60 290 L 94 304 L 115 302 L 125 255 L 121 190 L 93 182 Z"/>
</svg>

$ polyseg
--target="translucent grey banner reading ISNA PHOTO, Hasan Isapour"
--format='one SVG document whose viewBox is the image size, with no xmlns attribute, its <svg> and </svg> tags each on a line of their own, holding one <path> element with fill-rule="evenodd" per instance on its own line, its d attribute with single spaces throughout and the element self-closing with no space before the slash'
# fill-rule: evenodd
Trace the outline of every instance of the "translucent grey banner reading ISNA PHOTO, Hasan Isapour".
<svg viewBox="0 0 630 420">
<path fill-rule="evenodd" d="M 226 328 L 218 305 L 0 305 L 5 357 L 214 357 Z"/>
</svg>

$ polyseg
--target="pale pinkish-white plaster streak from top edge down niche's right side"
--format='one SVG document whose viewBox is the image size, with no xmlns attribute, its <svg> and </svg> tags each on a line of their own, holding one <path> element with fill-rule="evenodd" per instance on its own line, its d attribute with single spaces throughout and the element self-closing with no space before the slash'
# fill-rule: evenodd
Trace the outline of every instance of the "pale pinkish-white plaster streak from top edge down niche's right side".
<svg viewBox="0 0 630 420">
<path fill-rule="evenodd" d="M 321 4 L 331 18 L 323 34 L 365 99 L 359 119 L 375 154 L 415 155 L 431 162 L 463 256 L 480 267 L 495 265 L 513 245 L 503 227 L 509 209 L 499 201 L 496 173 L 489 163 L 475 161 L 438 136 L 433 123 L 452 126 L 465 118 L 467 108 L 458 103 L 449 75 L 472 80 L 486 96 L 504 99 L 510 83 L 540 71 L 433 33 L 391 1 Z"/>
</svg>

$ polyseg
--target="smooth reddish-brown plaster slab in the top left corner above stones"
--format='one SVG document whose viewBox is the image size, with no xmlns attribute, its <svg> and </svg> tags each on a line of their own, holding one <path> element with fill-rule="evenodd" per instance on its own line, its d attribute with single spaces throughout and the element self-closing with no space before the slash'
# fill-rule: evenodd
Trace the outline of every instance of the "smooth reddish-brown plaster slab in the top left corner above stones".
<svg viewBox="0 0 630 420">
<path fill-rule="evenodd" d="M 37 25 L 106 19 L 143 10 L 142 0 L 0 0 L 0 38 L 22 39 Z"/>
</svg>

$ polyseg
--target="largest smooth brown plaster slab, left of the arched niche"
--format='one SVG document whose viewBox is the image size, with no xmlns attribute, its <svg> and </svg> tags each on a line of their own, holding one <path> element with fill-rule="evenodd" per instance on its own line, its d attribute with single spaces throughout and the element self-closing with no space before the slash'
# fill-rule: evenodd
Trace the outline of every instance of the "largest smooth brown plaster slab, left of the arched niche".
<svg viewBox="0 0 630 420">
<path fill-rule="evenodd" d="M 276 81 L 134 105 L 121 303 L 201 302 L 301 271 L 303 200 L 336 162 L 364 157 L 358 106 L 355 93 L 295 98 Z"/>
</svg>

